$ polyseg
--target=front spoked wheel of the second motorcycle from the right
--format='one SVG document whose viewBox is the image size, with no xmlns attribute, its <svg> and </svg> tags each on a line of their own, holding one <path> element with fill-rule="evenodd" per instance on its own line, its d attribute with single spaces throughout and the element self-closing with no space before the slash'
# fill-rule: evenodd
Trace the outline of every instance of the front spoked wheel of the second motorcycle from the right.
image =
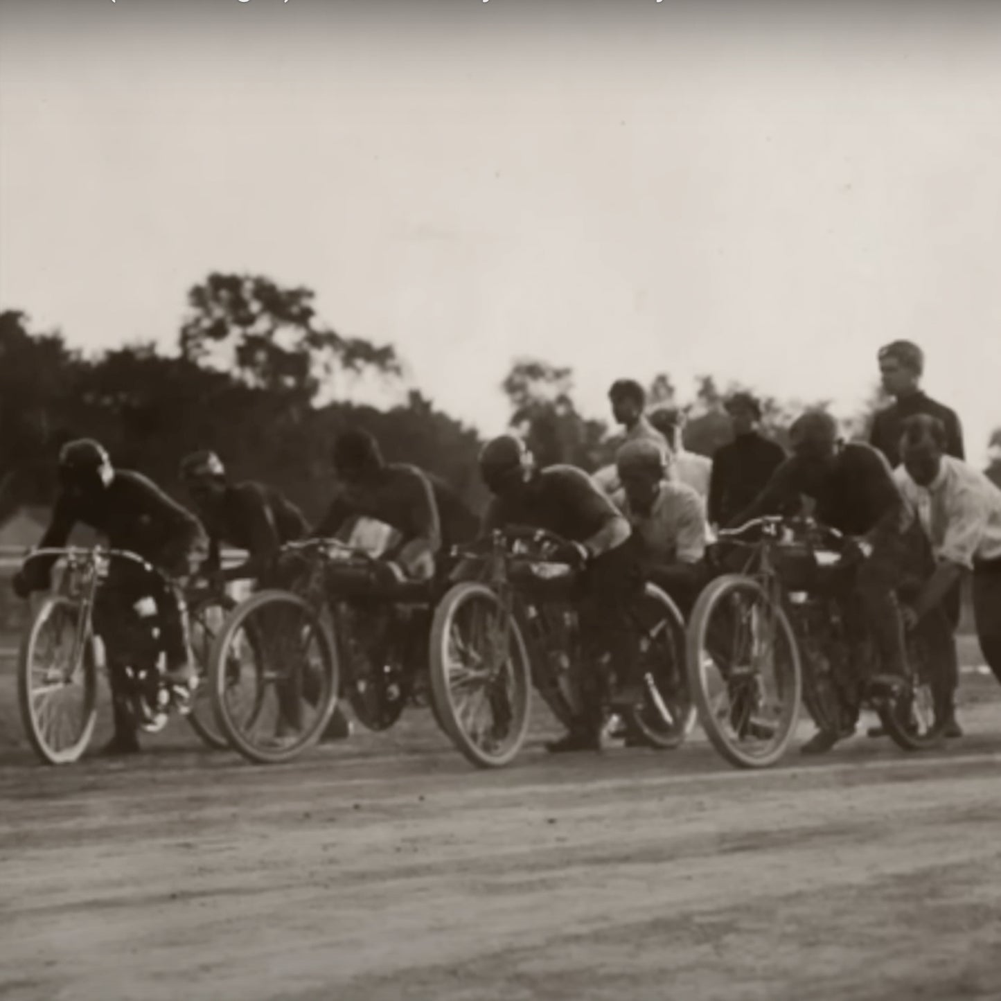
<svg viewBox="0 0 1001 1001">
<path fill-rule="evenodd" d="M 434 610 L 429 673 L 442 729 L 477 768 L 512 762 L 529 730 L 532 671 L 514 615 L 482 584 L 457 584 Z"/>
</svg>

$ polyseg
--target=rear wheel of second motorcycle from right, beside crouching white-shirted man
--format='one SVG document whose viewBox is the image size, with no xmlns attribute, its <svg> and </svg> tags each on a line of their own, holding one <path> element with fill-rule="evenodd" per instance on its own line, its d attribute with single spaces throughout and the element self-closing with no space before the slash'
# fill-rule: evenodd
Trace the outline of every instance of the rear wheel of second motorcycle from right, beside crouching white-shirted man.
<svg viewBox="0 0 1001 1001">
<path fill-rule="evenodd" d="M 633 722 L 654 747 L 671 750 L 685 742 L 697 716 L 685 670 L 685 619 L 666 592 L 648 584 L 636 621 L 645 695 Z"/>
</svg>

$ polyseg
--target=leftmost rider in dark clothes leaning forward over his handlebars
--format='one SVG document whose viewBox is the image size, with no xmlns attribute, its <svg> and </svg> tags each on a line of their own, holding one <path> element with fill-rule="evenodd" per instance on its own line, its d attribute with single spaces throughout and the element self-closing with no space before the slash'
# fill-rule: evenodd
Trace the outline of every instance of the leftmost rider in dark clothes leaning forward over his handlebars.
<svg viewBox="0 0 1001 1001">
<path fill-rule="evenodd" d="M 104 448 L 90 438 L 69 441 L 59 453 L 59 492 L 39 547 L 64 547 L 77 523 L 100 533 L 112 549 L 134 553 L 174 579 L 197 573 L 207 552 L 204 529 L 194 515 L 140 473 L 114 468 Z M 15 594 L 26 598 L 47 589 L 55 562 L 52 556 L 26 563 L 14 576 Z M 114 737 L 104 750 L 132 753 L 139 745 L 115 670 L 115 627 L 134 616 L 137 602 L 152 598 L 160 617 L 167 683 L 177 693 L 190 692 L 196 674 L 187 642 L 186 609 L 182 597 L 161 578 L 125 561 L 111 562 L 98 596 L 94 624 L 107 649 L 114 704 Z"/>
</svg>

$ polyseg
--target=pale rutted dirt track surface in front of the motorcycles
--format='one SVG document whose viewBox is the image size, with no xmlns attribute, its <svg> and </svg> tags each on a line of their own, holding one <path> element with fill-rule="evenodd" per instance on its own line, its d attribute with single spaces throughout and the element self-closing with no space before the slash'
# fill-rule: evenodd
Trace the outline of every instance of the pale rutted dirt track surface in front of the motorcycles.
<svg viewBox="0 0 1001 1001">
<path fill-rule="evenodd" d="M 1001 706 L 964 723 L 753 774 L 701 740 L 486 774 L 419 713 L 283 768 L 8 752 L 0 997 L 997 1001 Z"/>
</svg>

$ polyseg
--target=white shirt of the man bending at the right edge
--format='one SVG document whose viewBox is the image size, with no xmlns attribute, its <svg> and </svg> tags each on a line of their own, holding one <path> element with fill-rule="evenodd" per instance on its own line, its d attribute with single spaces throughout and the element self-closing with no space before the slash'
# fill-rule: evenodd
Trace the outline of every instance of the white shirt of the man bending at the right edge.
<svg viewBox="0 0 1001 1001">
<path fill-rule="evenodd" d="M 1001 489 L 979 469 L 943 455 L 939 474 L 927 487 L 903 465 L 893 474 L 939 560 L 967 568 L 1001 560 Z"/>
</svg>

